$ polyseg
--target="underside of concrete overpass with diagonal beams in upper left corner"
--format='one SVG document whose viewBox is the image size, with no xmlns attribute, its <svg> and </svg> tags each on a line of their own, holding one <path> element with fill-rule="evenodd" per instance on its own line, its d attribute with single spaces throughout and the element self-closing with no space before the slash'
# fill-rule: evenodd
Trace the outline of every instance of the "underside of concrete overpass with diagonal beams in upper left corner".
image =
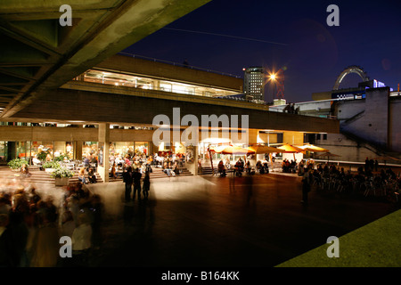
<svg viewBox="0 0 401 285">
<path fill-rule="evenodd" d="M 86 69 L 209 0 L 3 0 L 0 116 L 9 118 Z M 61 27 L 61 4 L 72 26 Z"/>
</svg>

